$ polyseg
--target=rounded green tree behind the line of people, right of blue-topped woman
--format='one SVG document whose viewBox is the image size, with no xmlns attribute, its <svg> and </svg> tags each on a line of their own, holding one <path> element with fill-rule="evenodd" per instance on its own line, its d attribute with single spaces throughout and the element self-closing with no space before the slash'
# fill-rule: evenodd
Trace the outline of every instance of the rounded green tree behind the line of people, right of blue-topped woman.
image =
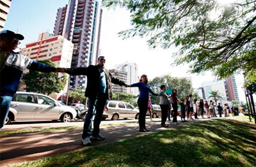
<svg viewBox="0 0 256 167">
<path fill-rule="evenodd" d="M 188 78 L 177 78 L 170 75 L 163 75 L 148 82 L 153 92 L 158 93 L 161 85 L 166 85 L 166 89 L 177 89 L 178 98 L 185 99 L 185 96 L 193 93 L 191 80 Z M 171 94 L 170 94 L 171 95 Z M 151 96 L 152 104 L 159 104 L 159 97 Z"/>
</svg>

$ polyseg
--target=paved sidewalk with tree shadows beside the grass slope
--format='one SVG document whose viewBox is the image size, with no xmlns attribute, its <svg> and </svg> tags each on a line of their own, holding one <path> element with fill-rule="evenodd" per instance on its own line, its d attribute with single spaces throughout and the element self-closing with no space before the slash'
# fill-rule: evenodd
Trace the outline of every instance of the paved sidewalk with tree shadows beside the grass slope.
<svg viewBox="0 0 256 167">
<path fill-rule="evenodd" d="M 191 122 L 198 122 L 209 119 L 199 119 Z M 95 145 L 104 145 L 132 138 L 144 134 L 155 133 L 165 130 L 160 126 L 161 121 L 148 122 L 147 127 L 150 132 L 140 133 L 138 124 L 129 123 L 116 126 L 101 126 L 100 133 L 106 136 L 104 141 L 92 140 L 91 146 L 83 146 L 81 141 L 82 129 L 67 129 L 60 131 L 50 131 L 41 133 L 23 133 L 1 136 L 0 140 L 0 166 L 8 166 L 10 164 L 24 163 L 26 161 L 35 161 L 42 157 L 54 156 L 71 150 L 90 148 Z M 172 124 L 166 122 L 168 128 L 180 126 L 182 124 Z M 12 129 L 15 130 L 15 129 Z"/>
</svg>

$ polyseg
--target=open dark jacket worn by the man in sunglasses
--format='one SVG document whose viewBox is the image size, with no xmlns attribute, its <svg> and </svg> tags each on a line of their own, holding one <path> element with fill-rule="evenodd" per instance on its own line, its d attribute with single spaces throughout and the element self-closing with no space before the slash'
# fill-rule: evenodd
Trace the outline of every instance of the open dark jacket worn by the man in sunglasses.
<svg viewBox="0 0 256 167">
<path fill-rule="evenodd" d="M 108 70 L 103 69 L 107 78 L 107 97 L 112 98 L 112 85 L 115 83 L 117 85 L 125 85 L 124 82 L 113 77 Z M 87 87 L 85 91 L 85 96 L 88 98 L 97 98 L 100 89 L 100 71 L 99 66 L 90 65 L 87 68 L 68 68 L 67 73 L 69 75 L 86 75 L 87 76 Z"/>
</svg>

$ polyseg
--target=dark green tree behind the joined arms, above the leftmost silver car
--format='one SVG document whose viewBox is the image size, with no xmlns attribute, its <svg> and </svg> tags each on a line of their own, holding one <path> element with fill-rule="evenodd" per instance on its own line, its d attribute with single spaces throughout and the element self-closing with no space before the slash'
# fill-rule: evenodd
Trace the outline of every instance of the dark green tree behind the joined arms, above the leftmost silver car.
<svg viewBox="0 0 256 167">
<path fill-rule="evenodd" d="M 55 66 L 50 60 L 38 61 L 47 65 Z M 29 70 L 24 73 L 22 80 L 26 83 L 28 92 L 38 92 L 41 94 L 52 94 L 60 92 L 67 82 L 67 75 L 58 76 L 58 73 L 43 73 L 39 71 Z"/>
</svg>

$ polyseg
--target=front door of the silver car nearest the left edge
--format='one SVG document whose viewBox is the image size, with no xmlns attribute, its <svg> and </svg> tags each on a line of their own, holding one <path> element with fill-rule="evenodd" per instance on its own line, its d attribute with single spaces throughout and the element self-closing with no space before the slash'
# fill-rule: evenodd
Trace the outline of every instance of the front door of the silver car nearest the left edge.
<svg viewBox="0 0 256 167">
<path fill-rule="evenodd" d="M 35 119 L 58 119 L 60 114 L 60 106 L 47 96 L 36 95 L 38 107 L 36 108 Z"/>
</svg>

